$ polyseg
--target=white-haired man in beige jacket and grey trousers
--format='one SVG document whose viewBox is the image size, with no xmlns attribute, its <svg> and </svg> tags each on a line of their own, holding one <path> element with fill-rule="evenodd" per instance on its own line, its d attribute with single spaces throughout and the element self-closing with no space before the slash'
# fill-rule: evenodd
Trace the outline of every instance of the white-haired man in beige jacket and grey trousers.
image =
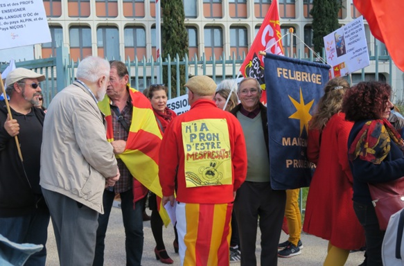
<svg viewBox="0 0 404 266">
<path fill-rule="evenodd" d="M 92 264 L 103 191 L 119 179 L 97 105 L 108 82 L 109 62 L 85 58 L 77 80 L 53 98 L 44 121 L 39 184 L 62 266 Z"/>
</svg>

